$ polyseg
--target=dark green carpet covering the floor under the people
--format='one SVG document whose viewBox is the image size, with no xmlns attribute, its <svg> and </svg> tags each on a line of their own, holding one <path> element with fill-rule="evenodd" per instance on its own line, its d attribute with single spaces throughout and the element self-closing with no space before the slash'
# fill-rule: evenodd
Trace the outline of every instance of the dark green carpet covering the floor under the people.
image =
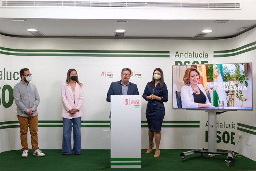
<svg viewBox="0 0 256 171">
<path fill-rule="evenodd" d="M 161 145 L 160 145 L 161 147 Z M 86 148 L 86 147 L 85 147 Z M 226 165 L 225 155 L 192 154 L 187 155 L 182 162 L 180 153 L 191 149 L 161 149 L 160 157 L 154 158 L 155 149 L 151 154 L 146 154 L 147 149 L 141 150 L 141 159 L 133 162 L 140 164 L 141 168 L 105 169 L 106 171 L 249 171 L 255 170 L 256 161 L 247 157 L 234 157 L 230 166 Z M 82 149 L 80 155 L 62 155 L 62 149 L 42 149 L 45 157 L 32 155 L 22 158 L 22 151 L 11 150 L 0 153 L 0 170 L 4 171 L 96 171 L 113 165 L 109 149 Z M 131 161 L 131 160 L 127 160 Z M 116 161 L 117 162 L 117 161 Z M 124 163 L 124 161 L 119 161 Z"/>
</svg>

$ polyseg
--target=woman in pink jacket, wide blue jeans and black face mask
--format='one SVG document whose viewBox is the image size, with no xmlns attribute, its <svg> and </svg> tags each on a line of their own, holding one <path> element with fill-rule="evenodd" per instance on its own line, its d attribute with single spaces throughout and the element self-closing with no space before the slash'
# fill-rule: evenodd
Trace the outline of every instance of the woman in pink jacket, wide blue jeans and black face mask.
<svg viewBox="0 0 256 171">
<path fill-rule="evenodd" d="M 79 83 L 75 69 L 69 69 L 65 83 L 62 83 L 62 119 L 63 139 L 62 154 L 72 154 L 71 132 L 73 123 L 73 154 L 81 154 L 81 118 L 83 104 L 83 85 Z"/>
</svg>

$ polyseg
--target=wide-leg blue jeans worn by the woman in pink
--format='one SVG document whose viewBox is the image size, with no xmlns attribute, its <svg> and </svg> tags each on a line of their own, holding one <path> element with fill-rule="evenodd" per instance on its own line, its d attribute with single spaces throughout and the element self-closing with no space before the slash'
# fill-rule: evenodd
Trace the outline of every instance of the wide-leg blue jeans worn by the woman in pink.
<svg viewBox="0 0 256 171">
<path fill-rule="evenodd" d="M 63 139 L 62 139 L 62 154 L 71 154 L 71 132 L 73 123 L 73 154 L 81 154 L 81 117 L 73 119 L 63 119 Z"/>
</svg>

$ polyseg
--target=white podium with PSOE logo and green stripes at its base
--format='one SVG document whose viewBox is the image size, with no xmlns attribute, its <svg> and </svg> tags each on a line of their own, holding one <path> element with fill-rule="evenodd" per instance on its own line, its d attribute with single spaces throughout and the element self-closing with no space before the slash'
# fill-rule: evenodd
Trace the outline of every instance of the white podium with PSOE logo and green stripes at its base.
<svg viewBox="0 0 256 171">
<path fill-rule="evenodd" d="M 111 168 L 141 168 L 141 96 L 111 96 Z"/>
</svg>

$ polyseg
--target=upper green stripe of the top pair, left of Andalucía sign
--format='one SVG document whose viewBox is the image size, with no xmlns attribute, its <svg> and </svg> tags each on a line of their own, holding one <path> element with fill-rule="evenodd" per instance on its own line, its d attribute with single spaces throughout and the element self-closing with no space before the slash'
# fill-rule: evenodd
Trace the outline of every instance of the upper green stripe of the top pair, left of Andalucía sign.
<svg viewBox="0 0 256 171">
<path fill-rule="evenodd" d="M 65 53 L 170 53 L 170 51 L 157 50 L 61 50 L 61 49 L 11 49 L 1 47 L 0 49 L 13 52 L 65 52 Z"/>
</svg>

